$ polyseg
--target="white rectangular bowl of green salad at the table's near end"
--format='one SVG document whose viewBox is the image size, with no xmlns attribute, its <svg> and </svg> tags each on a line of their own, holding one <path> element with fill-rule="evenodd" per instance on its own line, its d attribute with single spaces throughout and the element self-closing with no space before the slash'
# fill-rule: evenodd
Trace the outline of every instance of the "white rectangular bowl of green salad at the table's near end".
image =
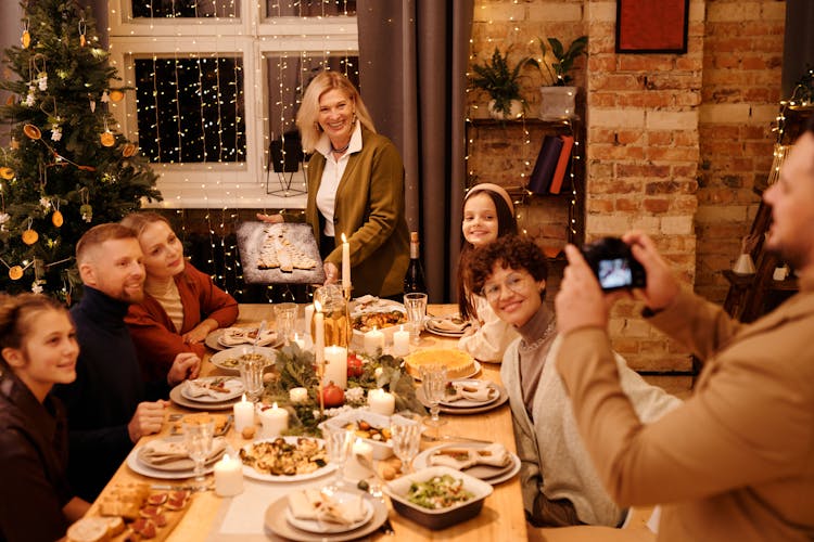
<svg viewBox="0 0 814 542">
<path fill-rule="evenodd" d="M 480 514 L 492 485 L 450 467 L 433 466 L 391 481 L 384 491 L 397 513 L 438 530 Z"/>
</svg>

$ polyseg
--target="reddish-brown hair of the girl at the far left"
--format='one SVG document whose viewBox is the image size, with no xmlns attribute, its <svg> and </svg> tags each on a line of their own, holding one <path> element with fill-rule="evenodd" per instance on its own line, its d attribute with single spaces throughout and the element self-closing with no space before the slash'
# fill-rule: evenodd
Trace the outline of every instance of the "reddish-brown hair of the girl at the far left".
<svg viewBox="0 0 814 542">
<path fill-rule="evenodd" d="M 41 294 L 0 294 L 0 350 L 18 349 L 31 332 L 40 312 L 55 310 L 67 314 L 67 309 L 56 299 Z M 0 356 L 0 367 L 9 369 Z"/>
</svg>

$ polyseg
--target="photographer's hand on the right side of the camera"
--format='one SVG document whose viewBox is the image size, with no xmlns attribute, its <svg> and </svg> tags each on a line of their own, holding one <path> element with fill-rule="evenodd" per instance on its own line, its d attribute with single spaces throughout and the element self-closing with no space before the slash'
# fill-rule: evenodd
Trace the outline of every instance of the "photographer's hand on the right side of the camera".
<svg viewBox="0 0 814 542">
<path fill-rule="evenodd" d="M 645 268 L 647 286 L 637 291 L 645 305 L 650 310 L 670 307 L 678 295 L 678 281 L 659 255 L 653 240 L 643 232 L 632 231 L 625 233 L 622 241 L 631 246 L 633 257 Z"/>
</svg>

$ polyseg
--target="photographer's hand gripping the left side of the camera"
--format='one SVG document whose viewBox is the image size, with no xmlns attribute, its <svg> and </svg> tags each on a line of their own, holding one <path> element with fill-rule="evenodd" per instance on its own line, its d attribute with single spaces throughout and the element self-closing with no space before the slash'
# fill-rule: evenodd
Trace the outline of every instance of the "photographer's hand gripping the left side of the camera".
<svg viewBox="0 0 814 542">
<path fill-rule="evenodd" d="M 555 298 L 557 330 L 569 333 L 580 327 L 608 327 L 610 307 L 624 291 L 606 294 L 594 271 L 574 245 L 565 246 L 568 267 L 562 275 L 560 291 Z"/>
</svg>

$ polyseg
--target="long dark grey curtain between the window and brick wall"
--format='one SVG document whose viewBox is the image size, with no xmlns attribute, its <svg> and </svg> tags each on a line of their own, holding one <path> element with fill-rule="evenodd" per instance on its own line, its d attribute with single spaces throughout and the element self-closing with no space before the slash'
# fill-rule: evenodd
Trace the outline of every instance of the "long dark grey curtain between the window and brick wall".
<svg viewBox="0 0 814 542">
<path fill-rule="evenodd" d="M 359 86 L 400 151 L 406 211 L 431 302 L 451 300 L 466 180 L 465 93 L 472 0 L 359 0 Z"/>
</svg>

